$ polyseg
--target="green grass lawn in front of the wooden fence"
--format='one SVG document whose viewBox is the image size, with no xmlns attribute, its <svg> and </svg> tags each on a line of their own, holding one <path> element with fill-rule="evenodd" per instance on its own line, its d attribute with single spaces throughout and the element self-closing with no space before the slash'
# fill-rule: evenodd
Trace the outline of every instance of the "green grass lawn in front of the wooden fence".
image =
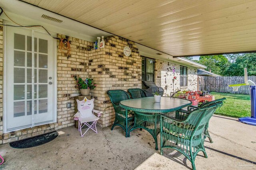
<svg viewBox="0 0 256 170">
<path fill-rule="evenodd" d="M 216 99 L 226 98 L 226 102 L 215 114 L 229 117 L 246 117 L 251 115 L 250 95 L 211 92 Z"/>
</svg>

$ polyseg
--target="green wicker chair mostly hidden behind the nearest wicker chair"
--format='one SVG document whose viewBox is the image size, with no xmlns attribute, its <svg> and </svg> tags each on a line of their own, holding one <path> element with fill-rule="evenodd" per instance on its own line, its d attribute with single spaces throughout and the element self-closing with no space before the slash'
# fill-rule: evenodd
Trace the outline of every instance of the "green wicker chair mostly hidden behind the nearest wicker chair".
<svg viewBox="0 0 256 170">
<path fill-rule="evenodd" d="M 198 108 L 201 108 L 201 107 L 204 107 L 204 106 L 209 106 L 211 104 L 218 103 L 218 102 L 221 102 L 221 101 L 224 101 L 224 100 L 226 100 L 226 98 L 221 98 L 221 99 L 218 99 L 218 100 L 213 100 L 211 102 L 206 102 L 206 103 L 202 104 L 200 107 L 198 107 L 198 106 L 188 106 L 188 110 L 180 109 L 180 110 L 178 110 L 178 112 L 183 113 L 183 114 L 179 113 L 179 115 L 183 115 L 183 117 L 180 117 L 180 120 L 186 119 L 186 117 L 194 109 L 198 109 Z M 210 137 L 210 133 L 208 132 L 208 126 L 209 126 L 209 124 L 207 123 L 206 126 L 205 126 L 205 129 L 204 129 L 203 137 L 204 137 L 204 140 L 206 139 L 206 137 L 208 137 L 209 140 L 210 140 L 210 143 L 213 143 L 212 138 Z"/>
</svg>

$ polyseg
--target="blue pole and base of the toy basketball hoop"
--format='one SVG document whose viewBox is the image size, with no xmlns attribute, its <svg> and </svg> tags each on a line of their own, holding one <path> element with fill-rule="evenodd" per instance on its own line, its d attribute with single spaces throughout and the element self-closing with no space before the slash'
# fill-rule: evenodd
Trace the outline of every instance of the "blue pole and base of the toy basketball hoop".
<svg viewBox="0 0 256 170">
<path fill-rule="evenodd" d="M 251 87 L 251 117 L 240 117 L 238 121 L 256 126 L 256 86 Z"/>
</svg>

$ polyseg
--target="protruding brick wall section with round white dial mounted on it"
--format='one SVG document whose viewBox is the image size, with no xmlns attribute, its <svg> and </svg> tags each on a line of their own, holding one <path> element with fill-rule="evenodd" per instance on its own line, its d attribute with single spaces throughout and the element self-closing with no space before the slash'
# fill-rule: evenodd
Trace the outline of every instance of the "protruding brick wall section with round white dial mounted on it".
<svg viewBox="0 0 256 170">
<path fill-rule="evenodd" d="M 124 46 L 130 46 L 130 57 L 123 54 Z M 98 84 L 92 91 L 95 109 L 105 111 L 98 120 L 100 127 L 112 125 L 115 118 L 114 108 L 107 90 L 128 90 L 141 88 L 141 57 L 134 42 L 118 36 L 108 37 L 105 48 L 89 52 L 89 72 Z"/>
</svg>

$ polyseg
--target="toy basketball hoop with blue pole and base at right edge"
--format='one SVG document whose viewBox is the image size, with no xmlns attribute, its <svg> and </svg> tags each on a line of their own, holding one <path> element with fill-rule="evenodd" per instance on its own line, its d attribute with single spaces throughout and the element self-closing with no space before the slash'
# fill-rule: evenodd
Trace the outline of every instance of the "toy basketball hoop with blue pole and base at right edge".
<svg viewBox="0 0 256 170">
<path fill-rule="evenodd" d="M 243 84 L 231 84 L 229 87 L 233 88 L 234 92 L 238 91 L 240 86 L 249 85 L 251 88 L 251 117 L 240 117 L 238 121 L 246 123 L 248 125 L 256 126 L 256 85 L 252 80 L 248 80 L 247 68 L 244 68 L 244 83 Z"/>
</svg>

